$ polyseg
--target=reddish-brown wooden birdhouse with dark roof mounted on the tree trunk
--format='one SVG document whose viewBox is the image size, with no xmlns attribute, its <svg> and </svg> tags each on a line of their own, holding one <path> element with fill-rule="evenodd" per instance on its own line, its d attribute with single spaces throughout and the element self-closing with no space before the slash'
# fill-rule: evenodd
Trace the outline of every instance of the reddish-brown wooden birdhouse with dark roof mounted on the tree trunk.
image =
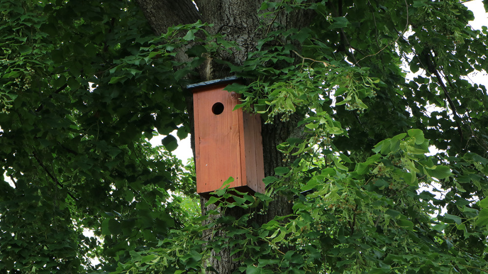
<svg viewBox="0 0 488 274">
<path fill-rule="evenodd" d="M 197 193 L 207 196 L 233 177 L 229 188 L 264 192 L 261 118 L 242 109 L 240 94 L 224 88 L 235 77 L 188 85 L 193 92 Z"/>
</svg>

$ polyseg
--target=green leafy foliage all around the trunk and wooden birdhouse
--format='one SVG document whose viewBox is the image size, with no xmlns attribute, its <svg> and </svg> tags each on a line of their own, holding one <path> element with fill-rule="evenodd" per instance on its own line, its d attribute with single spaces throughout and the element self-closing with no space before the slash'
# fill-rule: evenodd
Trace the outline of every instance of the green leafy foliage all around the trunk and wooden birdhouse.
<svg viewBox="0 0 488 274">
<path fill-rule="evenodd" d="M 273 20 L 297 9 L 312 23 Z M 2 273 L 197 273 L 223 248 L 248 273 L 488 272 L 488 95 L 467 77 L 488 67 L 488 31 L 460 1 L 263 1 L 239 65 L 206 22 L 154 35 L 134 1 L 0 12 Z M 170 133 L 190 132 L 182 87 L 208 57 L 247 79 L 229 87 L 241 107 L 300 121 L 266 193 L 219 190 L 233 202 L 207 203 L 245 214 L 203 225 L 217 210 L 200 215 Z M 293 214 L 256 223 L 278 195 Z"/>
</svg>

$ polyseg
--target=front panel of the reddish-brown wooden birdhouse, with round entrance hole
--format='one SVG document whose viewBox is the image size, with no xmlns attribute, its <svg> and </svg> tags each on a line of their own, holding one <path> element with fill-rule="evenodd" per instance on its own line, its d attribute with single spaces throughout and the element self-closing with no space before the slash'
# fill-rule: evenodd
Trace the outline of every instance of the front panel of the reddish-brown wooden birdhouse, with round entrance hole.
<svg viewBox="0 0 488 274">
<path fill-rule="evenodd" d="M 202 87 L 193 91 L 195 117 L 195 158 L 197 192 L 220 189 L 233 177 L 229 187 L 245 184 L 241 170 L 239 124 L 242 112 L 232 111 L 237 98 L 224 91 L 226 85 Z"/>
</svg>

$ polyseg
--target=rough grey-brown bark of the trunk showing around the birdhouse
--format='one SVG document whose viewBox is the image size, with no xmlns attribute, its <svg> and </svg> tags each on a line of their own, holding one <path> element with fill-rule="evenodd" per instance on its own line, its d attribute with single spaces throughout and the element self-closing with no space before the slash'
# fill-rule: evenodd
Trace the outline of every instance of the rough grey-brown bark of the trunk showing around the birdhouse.
<svg viewBox="0 0 488 274">
<path fill-rule="evenodd" d="M 263 38 L 268 31 L 273 31 L 273 22 L 279 22 L 288 28 L 300 28 L 308 26 L 311 18 L 306 10 L 286 13 L 284 10 L 278 12 L 273 20 L 269 20 L 269 26 L 264 29 L 259 29 L 263 20 L 258 16 L 257 10 L 261 7 L 263 0 L 195 0 L 197 8 L 193 5 L 191 0 L 137 0 L 141 9 L 149 21 L 150 25 L 157 34 L 167 31 L 167 28 L 172 25 L 181 23 L 193 23 L 197 20 L 211 23 L 213 26 L 208 30 L 211 34 L 220 33 L 225 35 L 225 39 L 236 42 L 240 49 L 233 49 L 231 54 L 222 52 L 219 59 L 225 59 L 240 65 L 247 58 L 248 53 L 256 49 L 257 41 Z M 180 61 L 187 61 L 188 58 L 184 56 L 177 56 Z M 219 64 L 212 61 L 211 58 L 201 68 L 201 81 L 224 78 L 229 76 L 228 70 Z M 204 71 L 203 71 L 204 70 Z M 188 113 L 192 119 L 192 104 L 191 97 L 188 97 Z M 263 125 L 263 150 L 264 150 L 264 175 L 273 176 L 275 167 L 284 165 L 284 156 L 276 150 L 276 146 L 285 141 L 296 130 L 297 119 L 291 119 L 287 123 L 279 122 L 277 119 L 274 124 Z M 192 149 L 195 151 L 193 131 L 192 131 Z M 206 199 L 201 199 L 201 204 L 204 205 Z M 288 215 L 292 212 L 291 202 L 289 198 L 277 196 L 275 202 L 271 203 L 264 215 L 257 215 L 253 221 L 258 224 L 263 224 L 276 215 Z M 202 206 L 202 213 L 213 209 L 212 206 L 205 208 Z M 233 215 L 238 218 L 242 214 L 242 210 L 229 208 L 225 212 L 226 215 Z M 215 216 L 218 217 L 218 216 Z M 210 235 L 205 237 L 211 240 Z M 223 249 L 218 254 L 213 253 L 210 258 L 210 263 L 213 268 L 221 274 L 233 273 L 237 270 L 240 263 L 233 261 L 232 258 L 238 256 L 230 256 L 231 250 Z M 220 256 L 217 260 L 215 256 Z"/>
</svg>

